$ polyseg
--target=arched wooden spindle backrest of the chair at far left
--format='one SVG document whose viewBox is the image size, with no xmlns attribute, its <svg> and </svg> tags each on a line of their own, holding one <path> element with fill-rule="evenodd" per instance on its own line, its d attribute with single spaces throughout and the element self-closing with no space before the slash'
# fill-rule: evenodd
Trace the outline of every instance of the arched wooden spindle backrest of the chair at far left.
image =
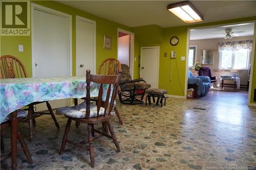
<svg viewBox="0 0 256 170">
<path fill-rule="evenodd" d="M 0 78 L 13 79 L 13 78 L 26 78 L 28 77 L 25 66 L 23 63 L 13 56 L 2 56 L 0 61 Z"/>
</svg>

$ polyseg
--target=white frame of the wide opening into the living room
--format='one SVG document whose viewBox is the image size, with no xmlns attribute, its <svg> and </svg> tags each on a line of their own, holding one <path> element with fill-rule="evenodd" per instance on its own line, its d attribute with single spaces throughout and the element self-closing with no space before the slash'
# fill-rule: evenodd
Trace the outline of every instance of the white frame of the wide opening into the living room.
<svg viewBox="0 0 256 170">
<path fill-rule="evenodd" d="M 253 33 L 253 39 L 256 38 L 256 20 L 248 20 L 248 21 L 242 21 L 242 22 L 232 22 L 232 23 L 224 23 L 220 25 L 211 25 L 211 26 L 204 26 L 204 27 L 193 27 L 187 29 L 187 55 L 186 55 L 186 75 L 185 75 L 185 89 L 184 89 L 184 97 L 187 96 L 187 81 L 188 81 L 188 51 L 189 51 L 189 37 L 190 37 L 190 30 L 192 29 L 201 29 L 201 28 L 212 28 L 212 27 L 219 27 L 219 26 L 226 26 L 226 25 L 236 25 L 239 23 L 249 23 L 254 22 L 254 33 Z M 253 77 L 253 64 L 254 64 L 254 54 L 255 54 L 255 41 L 252 43 L 252 50 L 251 50 L 251 72 L 250 72 L 250 83 L 249 83 L 249 91 L 248 91 L 248 100 L 247 105 L 248 106 L 254 106 L 256 107 L 256 104 L 251 103 L 251 91 L 252 91 L 252 77 Z"/>
</svg>

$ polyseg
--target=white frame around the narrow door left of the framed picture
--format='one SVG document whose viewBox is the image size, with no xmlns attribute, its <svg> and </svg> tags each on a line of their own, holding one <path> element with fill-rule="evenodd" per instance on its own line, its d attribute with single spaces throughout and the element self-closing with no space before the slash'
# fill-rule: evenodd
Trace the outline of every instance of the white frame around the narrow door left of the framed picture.
<svg viewBox="0 0 256 170">
<path fill-rule="evenodd" d="M 93 66 L 93 70 L 91 70 L 91 71 L 92 71 L 92 74 L 96 74 L 96 21 L 76 15 L 76 37 L 77 37 L 77 21 L 78 20 L 89 22 L 93 25 L 93 65 L 94 66 Z M 76 38 L 76 44 L 77 43 L 78 42 L 77 42 L 77 38 Z M 76 45 L 76 54 L 77 54 L 77 45 Z M 76 73 L 78 71 L 77 65 L 78 65 L 78 63 L 76 60 Z"/>
</svg>

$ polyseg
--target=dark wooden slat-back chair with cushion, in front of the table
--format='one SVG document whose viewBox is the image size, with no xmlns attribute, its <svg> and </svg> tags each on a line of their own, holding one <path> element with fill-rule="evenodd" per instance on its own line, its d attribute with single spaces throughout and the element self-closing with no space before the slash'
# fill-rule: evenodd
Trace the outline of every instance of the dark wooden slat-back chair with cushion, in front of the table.
<svg viewBox="0 0 256 170">
<path fill-rule="evenodd" d="M 70 108 L 60 108 L 61 113 L 65 114 L 65 116 L 68 118 L 67 126 L 65 129 L 65 134 L 63 135 L 61 148 L 59 154 L 61 155 L 65 149 L 66 142 L 75 145 L 75 147 L 80 147 L 82 149 L 88 149 L 84 145 L 84 143 L 89 142 L 89 153 L 90 153 L 90 159 L 92 167 L 94 167 L 94 148 L 93 148 L 93 140 L 98 138 L 98 136 L 95 135 L 95 132 L 97 132 L 100 135 L 104 135 L 106 137 L 112 138 L 117 150 L 120 152 L 119 144 L 117 142 L 116 136 L 114 134 L 114 131 L 110 125 L 110 118 L 111 111 L 114 107 L 114 101 L 117 94 L 117 87 L 118 87 L 118 81 L 119 81 L 119 75 L 114 76 L 106 76 L 106 75 L 91 75 L 91 71 L 87 70 L 86 74 L 86 82 L 87 82 L 87 95 L 86 95 L 86 113 L 80 112 L 80 116 L 78 115 L 79 112 L 77 110 L 74 110 L 74 113 L 70 111 Z M 100 84 L 100 89 L 98 93 L 98 99 L 97 99 L 97 105 L 92 106 L 90 103 L 90 83 L 95 82 Z M 102 100 L 102 94 L 103 94 L 103 84 L 108 84 L 108 91 L 106 93 L 106 99 L 105 102 Z M 111 86 L 113 85 L 113 91 L 112 91 L 112 98 L 110 100 L 110 94 L 111 94 Z M 110 102 L 109 102 L 110 101 Z M 75 107 L 75 106 L 74 106 Z M 94 110 L 93 110 L 94 108 Z M 59 109 L 57 109 L 57 112 Z M 82 117 L 82 118 L 77 118 Z M 88 140 L 83 140 L 81 142 L 74 142 L 68 139 L 68 133 L 70 131 L 70 125 L 71 121 L 75 120 L 79 123 L 86 123 L 88 124 Z M 105 126 L 108 126 L 109 131 L 111 133 L 111 136 L 109 134 L 106 134 L 104 131 L 100 132 L 96 129 L 94 129 L 94 124 L 102 123 Z"/>
</svg>

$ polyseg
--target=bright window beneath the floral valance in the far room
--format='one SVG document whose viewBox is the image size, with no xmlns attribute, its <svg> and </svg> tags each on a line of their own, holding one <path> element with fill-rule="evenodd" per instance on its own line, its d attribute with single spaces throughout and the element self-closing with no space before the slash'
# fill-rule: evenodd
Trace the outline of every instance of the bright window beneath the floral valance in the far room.
<svg viewBox="0 0 256 170">
<path fill-rule="evenodd" d="M 250 51 L 241 49 L 237 51 L 220 51 L 219 69 L 247 69 Z"/>
</svg>

